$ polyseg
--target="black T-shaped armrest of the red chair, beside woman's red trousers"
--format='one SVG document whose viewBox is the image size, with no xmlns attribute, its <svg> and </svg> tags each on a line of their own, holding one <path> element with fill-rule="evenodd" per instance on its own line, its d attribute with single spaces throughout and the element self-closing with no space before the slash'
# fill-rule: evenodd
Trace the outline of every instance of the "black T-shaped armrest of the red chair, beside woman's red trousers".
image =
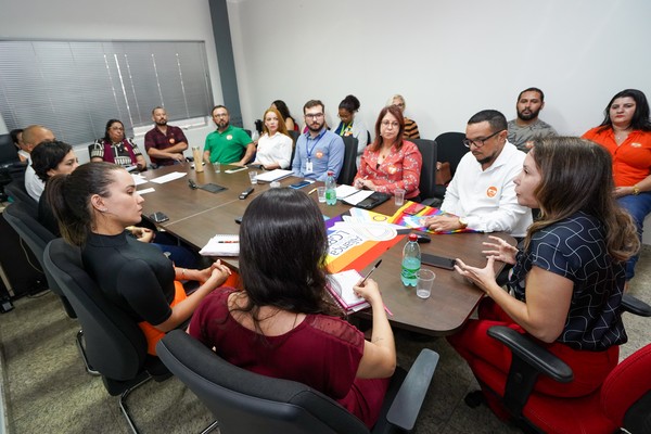
<svg viewBox="0 0 651 434">
<path fill-rule="evenodd" d="M 505 386 L 505 407 L 519 418 L 534 390 L 538 374 L 569 383 L 574 379 L 572 369 L 561 359 L 538 346 L 523 334 L 505 326 L 488 329 L 488 335 L 511 349 L 512 360 Z"/>
</svg>

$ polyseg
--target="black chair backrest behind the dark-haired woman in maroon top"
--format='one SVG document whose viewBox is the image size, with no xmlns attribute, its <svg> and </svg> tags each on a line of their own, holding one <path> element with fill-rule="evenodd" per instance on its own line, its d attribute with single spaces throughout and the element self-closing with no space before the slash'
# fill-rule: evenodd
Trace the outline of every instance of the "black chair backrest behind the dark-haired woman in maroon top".
<svg viewBox="0 0 651 434">
<path fill-rule="evenodd" d="M 238 368 L 183 331 L 156 346 L 158 357 L 210 409 L 229 433 L 368 433 L 355 416 L 326 395 L 288 380 Z"/>
</svg>

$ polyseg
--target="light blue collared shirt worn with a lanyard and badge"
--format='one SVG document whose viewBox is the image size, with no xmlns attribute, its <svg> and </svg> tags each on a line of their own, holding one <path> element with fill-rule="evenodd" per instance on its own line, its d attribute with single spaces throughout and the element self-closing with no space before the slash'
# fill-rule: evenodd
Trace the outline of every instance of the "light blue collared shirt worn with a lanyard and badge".
<svg viewBox="0 0 651 434">
<path fill-rule="evenodd" d="M 312 165 L 312 170 L 309 173 L 306 170 L 308 155 Z M 343 164 L 344 141 L 334 132 L 323 129 L 316 138 L 312 138 L 309 131 L 298 137 L 292 162 L 295 176 L 326 181 L 328 171 L 332 170 L 336 179 Z"/>
</svg>

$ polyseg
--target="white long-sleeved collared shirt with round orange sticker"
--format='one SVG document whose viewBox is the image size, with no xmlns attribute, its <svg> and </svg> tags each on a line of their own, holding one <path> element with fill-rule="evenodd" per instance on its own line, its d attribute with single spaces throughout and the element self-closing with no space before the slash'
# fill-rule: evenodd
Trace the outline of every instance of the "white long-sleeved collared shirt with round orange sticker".
<svg viewBox="0 0 651 434">
<path fill-rule="evenodd" d="M 482 232 L 509 232 L 524 237 L 533 222 L 529 208 L 519 205 L 513 178 L 526 154 L 507 142 L 486 170 L 472 153 L 459 162 L 441 208 L 464 217 L 468 227 Z"/>
</svg>

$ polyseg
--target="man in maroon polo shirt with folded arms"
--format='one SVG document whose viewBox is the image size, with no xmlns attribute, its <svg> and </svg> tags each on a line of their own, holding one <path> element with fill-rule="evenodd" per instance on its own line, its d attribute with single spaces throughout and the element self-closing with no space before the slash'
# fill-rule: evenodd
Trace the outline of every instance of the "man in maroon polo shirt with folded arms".
<svg viewBox="0 0 651 434">
<path fill-rule="evenodd" d="M 183 151 L 188 149 L 188 139 L 183 131 L 167 125 L 167 113 L 161 106 L 152 111 L 152 120 L 156 126 L 144 136 L 144 149 L 152 164 L 169 166 L 184 162 Z"/>
</svg>

